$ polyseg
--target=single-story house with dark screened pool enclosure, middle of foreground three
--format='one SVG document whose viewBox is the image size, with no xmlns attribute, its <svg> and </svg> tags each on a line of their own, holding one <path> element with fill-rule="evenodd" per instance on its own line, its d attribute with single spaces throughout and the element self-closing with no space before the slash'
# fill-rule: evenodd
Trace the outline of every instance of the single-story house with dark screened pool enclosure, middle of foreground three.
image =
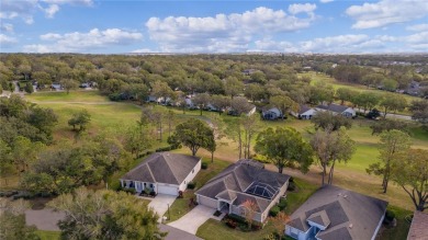
<svg viewBox="0 0 428 240">
<path fill-rule="evenodd" d="M 243 216 L 243 204 L 256 203 L 254 220 L 263 222 L 270 208 L 284 196 L 290 176 L 264 170 L 254 160 L 239 160 L 227 167 L 195 192 L 201 205 Z"/>
</svg>

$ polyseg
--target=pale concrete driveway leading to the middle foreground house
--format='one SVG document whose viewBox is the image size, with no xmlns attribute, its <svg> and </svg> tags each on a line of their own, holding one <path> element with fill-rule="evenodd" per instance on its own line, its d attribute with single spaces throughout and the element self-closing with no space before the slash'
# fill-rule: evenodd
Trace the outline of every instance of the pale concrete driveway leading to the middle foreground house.
<svg viewBox="0 0 428 240">
<path fill-rule="evenodd" d="M 196 235 L 198 228 L 210 219 L 214 212 L 214 208 L 198 205 L 187 215 L 176 221 L 169 222 L 168 225 L 189 233 Z"/>
</svg>

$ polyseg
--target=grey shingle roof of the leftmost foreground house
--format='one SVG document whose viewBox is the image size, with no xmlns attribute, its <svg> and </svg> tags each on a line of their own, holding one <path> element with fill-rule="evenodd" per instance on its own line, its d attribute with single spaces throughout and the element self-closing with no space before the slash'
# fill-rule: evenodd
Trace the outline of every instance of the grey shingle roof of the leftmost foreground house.
<svg viewBox="0 0 428 240">
<path fill-rule="evenodd" d="M 200 160 L 192 156 L 156 152 L 121 179 L 181 184 Z"/>
</svg>

